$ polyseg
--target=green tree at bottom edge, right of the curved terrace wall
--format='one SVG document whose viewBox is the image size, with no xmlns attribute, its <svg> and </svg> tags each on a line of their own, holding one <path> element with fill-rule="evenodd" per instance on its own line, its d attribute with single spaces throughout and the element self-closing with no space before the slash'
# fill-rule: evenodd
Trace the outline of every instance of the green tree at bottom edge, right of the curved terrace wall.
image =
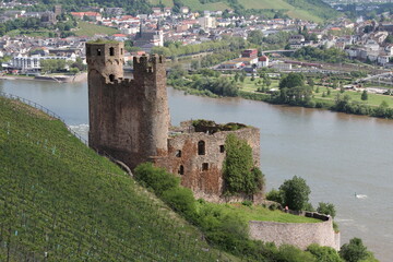
<svg viewBox="0 0 393 262">
<path fill-rule="evenodd" d="M 340 250 L 340 257 L 347 262 L 372 260 L 373 254 L 367 250 L 360 238 L 353 238 L 349 243 L 344 243 Z"/>
</svg>

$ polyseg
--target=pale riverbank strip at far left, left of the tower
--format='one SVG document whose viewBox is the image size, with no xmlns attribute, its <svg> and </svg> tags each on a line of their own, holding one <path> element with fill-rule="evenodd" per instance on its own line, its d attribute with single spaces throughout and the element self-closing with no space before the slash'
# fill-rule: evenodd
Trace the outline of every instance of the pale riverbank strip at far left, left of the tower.
<svg viewBox="0 0 393 262">
<path fill-rule="evenodd" d="M 28 81 L 52 81 L 58 83 L 76 83 L 87 80 L 87 73 L 79 73 L 75 75 L 36 75 L 36 76 L 24 76 L 24 75 L 0 75 L 0 79 L 3 80 L 28 80 Z"/>
</svg>

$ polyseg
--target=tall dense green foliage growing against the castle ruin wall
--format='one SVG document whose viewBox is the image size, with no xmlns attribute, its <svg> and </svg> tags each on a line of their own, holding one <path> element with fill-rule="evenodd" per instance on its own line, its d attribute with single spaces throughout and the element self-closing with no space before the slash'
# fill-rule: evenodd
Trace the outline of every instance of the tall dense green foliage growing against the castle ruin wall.
<svg viewBox="0 0 393 262">
<path fill-rule="evenodd" d="M 253 166 L 252 148 L 246 140 L 229 134 L 225 141 L 224 181 L 230 194 L 253 194 L 262 190 L 263 174 Z"/>
</svg>

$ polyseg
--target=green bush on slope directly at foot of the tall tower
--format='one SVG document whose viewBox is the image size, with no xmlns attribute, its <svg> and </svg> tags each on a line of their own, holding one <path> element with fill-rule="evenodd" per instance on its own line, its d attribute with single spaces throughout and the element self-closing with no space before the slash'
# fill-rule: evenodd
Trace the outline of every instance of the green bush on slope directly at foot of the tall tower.
<svg viewBox="0 0 393 262">
<path fill-rule="evenodd" d="M 164 168 L 154 167 L 152 163 L 143 163 L 134 169 L 134 176 L 144 187 L 152 188 L 156 195 L 179 186 L 179 178 Z"/>
</svg>

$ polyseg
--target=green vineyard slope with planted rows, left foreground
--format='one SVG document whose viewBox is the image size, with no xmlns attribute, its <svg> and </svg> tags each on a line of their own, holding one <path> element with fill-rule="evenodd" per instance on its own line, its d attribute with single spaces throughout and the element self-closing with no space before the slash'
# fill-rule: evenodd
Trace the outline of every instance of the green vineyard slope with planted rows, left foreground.
<svg viewBox="0 0 393 262">
<path fill-rule="evenodd" d="M 212 261 L 201 234 L 64 126 L 0 97 L 0 261 Z"/>
</svg>

